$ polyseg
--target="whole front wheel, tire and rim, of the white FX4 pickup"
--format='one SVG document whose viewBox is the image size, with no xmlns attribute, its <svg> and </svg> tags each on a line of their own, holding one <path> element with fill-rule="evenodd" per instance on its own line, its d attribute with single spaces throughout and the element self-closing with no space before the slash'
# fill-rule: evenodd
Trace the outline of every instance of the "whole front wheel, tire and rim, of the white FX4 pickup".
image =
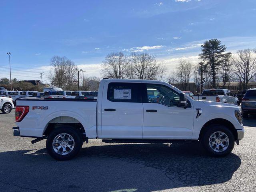
<svg viewBox="0 0 256 192">
<path fill-rule="evenodd" d="M 202 136 L 202 144 L 206 151 L 216 157 L 230 154 L 234 148 L 234 135 L 223 125 L 213 124 Z"/>
</svg>

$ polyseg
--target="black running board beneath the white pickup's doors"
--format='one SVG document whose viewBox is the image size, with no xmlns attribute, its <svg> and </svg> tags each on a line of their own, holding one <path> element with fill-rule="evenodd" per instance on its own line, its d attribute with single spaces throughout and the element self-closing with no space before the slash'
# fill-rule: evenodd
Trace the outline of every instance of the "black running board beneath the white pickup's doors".
<svg viewBox="0 0 256 192">
<path fill-rule="evenodd" d="M 102 139 L 104 143 L 191 143 L 197 140 L 170 139 Z"/>
</svg>

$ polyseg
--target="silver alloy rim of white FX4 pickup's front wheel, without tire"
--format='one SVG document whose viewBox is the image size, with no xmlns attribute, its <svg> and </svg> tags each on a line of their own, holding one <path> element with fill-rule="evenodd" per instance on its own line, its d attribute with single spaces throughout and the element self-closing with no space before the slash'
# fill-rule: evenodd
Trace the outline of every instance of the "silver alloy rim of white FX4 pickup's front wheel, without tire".
<svg viewBox="0 0 256 192">
<path fill-rule="evenodd" d="M 228 148 L 228 136 L 221 131 L 214 132 L 209 138 L 209 145 L 215 152 L 222 152 Z"/>
</svg>

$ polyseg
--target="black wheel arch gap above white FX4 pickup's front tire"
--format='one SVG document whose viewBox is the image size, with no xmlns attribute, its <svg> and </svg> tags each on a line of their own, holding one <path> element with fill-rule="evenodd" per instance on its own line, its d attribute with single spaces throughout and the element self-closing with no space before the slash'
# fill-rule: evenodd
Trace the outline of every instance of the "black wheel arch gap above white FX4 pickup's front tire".
<svg viewBox="0 0 256 192">
<path fill-rule="evenodd" d="M 204 124 L 204 126 L 202 127 L 202 129 L 200 130 L 200 134 L 199 134 L 199 138 L 198 138 L 199 140 L 200 140 L 200 138 L 202 138 L 202 136 L 204 135 L 204 133 L 207 130 L 207 127 L 210 124 L 219 124 L 219 125 L 226 126 L 234 135 L 235 140 L 237 140 L 237 132 L 236 132 L 234 125 L 230 121 L 228 121 L 226 119 L 222 119 L 222 118 L 215 118 L 215 119 L 212 119 L 212 120 L 209 120 L 208 122 L 206 122 Z"/>
</svg>

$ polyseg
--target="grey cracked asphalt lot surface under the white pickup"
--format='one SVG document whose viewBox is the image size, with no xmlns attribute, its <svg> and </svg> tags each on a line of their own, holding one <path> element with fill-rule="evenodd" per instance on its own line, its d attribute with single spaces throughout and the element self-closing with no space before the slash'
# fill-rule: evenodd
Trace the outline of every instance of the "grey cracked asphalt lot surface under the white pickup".
<svg viewBox="0 0 256 192">
<path fill-rule="evenodd" d="M 58 162 L 45 140 L 12 136 L 14 110 L 0 113 L 1 192 L 256 191 L 256 117 L 224 158 L 199 144 L 104 144 L 89 140 L 76 158 Z"/>
</svg>

